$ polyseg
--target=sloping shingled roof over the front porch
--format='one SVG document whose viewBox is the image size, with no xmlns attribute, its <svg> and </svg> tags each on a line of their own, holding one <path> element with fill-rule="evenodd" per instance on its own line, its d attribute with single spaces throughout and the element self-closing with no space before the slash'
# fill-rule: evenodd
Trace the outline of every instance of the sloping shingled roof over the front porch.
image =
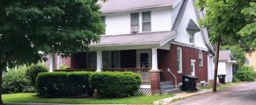
<svg viewBox="0 0 256 105">
<path fill-rule="evenodd" d="M 158 45 L 162 46 L 175 38 L 176 31 L 157 31 L 125 35 L 106 35 L 99 43 L 92 43 L 89 47 L 120 46 L 120 45 Z"/>
</svg>

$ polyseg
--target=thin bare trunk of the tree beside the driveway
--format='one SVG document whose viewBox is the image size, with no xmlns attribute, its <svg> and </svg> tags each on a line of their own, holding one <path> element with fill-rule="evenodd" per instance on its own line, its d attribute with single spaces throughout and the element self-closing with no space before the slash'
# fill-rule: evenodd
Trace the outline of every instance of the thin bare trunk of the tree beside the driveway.
<svg viewBox="0 0 256 105">
<path fill-rule="evenodd" d="M 214 87 L 213 92 L 217 92 L 217 75 L 218 75 L 218 65 L 219 65 L 219 52 L 220 52 L 220 45 L 221 45 L 221 36 L 218 36 L 217 42 L 217 49 L 215 54 L 215 78 L 214 78 Z"/>
</svg>

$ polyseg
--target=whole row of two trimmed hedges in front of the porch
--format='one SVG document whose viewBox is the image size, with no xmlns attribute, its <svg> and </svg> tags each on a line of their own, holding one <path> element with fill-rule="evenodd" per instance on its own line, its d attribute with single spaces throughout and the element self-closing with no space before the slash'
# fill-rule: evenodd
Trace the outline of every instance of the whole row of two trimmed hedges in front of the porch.
<svg viewBox="0 0 256 105">
<path fill-rule="evenodd" d="M 134 95 L 141 83 L 137 73 L 58 72 L 40 73 L 37 77 L 37 93 L 46 97 L 93 95 L 94 89 L 101 97 Z"/>
</svg>

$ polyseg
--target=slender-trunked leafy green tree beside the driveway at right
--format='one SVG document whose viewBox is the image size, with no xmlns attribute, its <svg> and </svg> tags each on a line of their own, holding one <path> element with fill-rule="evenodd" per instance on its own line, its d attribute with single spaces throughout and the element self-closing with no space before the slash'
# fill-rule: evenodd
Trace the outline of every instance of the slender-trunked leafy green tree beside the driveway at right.
<svg viewBox="0 0 256 105">
<path fill-rule="evenodd" d="M 241 38 L 237 34 L 250 20 L 241 12 L 249 6 L 251 0 L 199 0 L 197 5 L 206 11 L 205 18 L 200 25 L 207 26 L 211 41 L 216 44 L 215 54 L 215 80 L 213 91 L 216 92 L 216 79 L 220 45 L 244 45 L 252 38 Z M 247 45 L 245 45 L 247 44 Z"/>
</svg>

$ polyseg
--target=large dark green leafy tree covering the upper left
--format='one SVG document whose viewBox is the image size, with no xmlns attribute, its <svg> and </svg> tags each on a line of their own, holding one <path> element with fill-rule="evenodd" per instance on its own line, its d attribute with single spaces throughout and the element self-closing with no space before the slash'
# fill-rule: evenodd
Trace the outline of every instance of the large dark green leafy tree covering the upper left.
<svg viewBox="0 0 256 105">
<path fill-rule="evenodd" d="M 45 60 L 49 52 L 63 53 L 65 56 L 78 50 L 87 50 L 88 44 L 99 41 L 104 30 L 100 5 L 96 2 L 97 0 L 1 0 L 1 71 L 6 66 Z M 2 79 L 2 72 L 0 78 Z M 2 96 L 0 104 L 3 104 Z"/>
</svg>

